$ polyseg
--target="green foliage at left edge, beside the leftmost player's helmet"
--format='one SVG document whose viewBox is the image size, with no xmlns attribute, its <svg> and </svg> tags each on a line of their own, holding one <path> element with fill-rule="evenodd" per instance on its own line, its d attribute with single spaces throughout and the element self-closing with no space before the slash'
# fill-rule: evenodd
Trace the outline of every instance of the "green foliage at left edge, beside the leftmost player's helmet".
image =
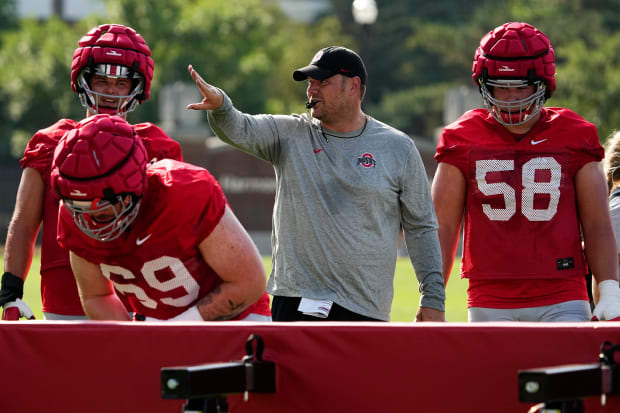
<svg viewBox="0 0 620 413">
<path fill-rule="evenodd" d="M 84 32 L 52 18 L 22 20 L 18 30 L 0 34 L 0 96 L 8 129 L 2 147 L 13 148 L 14 157 L 37 129 L 61 117 L 83 116 L 69 79 L 73 50 Z"/>
</svg>

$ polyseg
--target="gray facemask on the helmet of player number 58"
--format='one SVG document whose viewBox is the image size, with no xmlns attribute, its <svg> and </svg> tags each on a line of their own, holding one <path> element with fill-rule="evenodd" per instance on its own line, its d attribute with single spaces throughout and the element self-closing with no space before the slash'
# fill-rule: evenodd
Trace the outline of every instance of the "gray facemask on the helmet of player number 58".
<svg viewBox="0 0 620 413">
<path fill-rule="evenodd" d="M 522 125 L 534 118 L 542 110 L 546 101 L 546 84 L 541 80 L 530 82 L 527 79 L 483 79 L 479 80 L 480 93 L 484 105 L 493 118 L 505 126 Z M 534 93 L 520 100 L 499 100 L 493 96 L 496 87 L 534 86 Z"/>
</svg>

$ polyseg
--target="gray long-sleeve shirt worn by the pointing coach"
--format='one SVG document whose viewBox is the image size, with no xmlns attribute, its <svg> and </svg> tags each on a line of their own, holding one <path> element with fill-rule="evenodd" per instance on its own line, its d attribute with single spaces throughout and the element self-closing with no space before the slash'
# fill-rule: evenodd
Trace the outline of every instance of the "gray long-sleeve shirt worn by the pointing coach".
<svg viewBox="0 0 620 413">
<path fill-rule="evenodd" d="M 248 115 L 227 96 L 208 119 L 224 142 L 275 169 L 270 294 L 389 320 L 402 222 L 420 304 L 444 311 L 437 220 L 407 135 L 370 117 L 363 131 L 327 135 L 308 114 Z"/>
</svg>

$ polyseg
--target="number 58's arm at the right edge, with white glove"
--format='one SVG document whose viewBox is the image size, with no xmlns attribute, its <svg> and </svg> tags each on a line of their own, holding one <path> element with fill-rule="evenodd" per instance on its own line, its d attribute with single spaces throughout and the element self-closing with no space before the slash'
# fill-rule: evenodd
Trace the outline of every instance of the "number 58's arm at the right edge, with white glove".
<svg viewBox="0 0 620 413">
<path fill-rule="evenodd" d="M 598 162 L 584 165 L 575 175 L 575 188 L 585 253 L 600 294 L 594 315 L 611 320 L 620 317 L 618 251 L 601 165 Z"/>
</svg>

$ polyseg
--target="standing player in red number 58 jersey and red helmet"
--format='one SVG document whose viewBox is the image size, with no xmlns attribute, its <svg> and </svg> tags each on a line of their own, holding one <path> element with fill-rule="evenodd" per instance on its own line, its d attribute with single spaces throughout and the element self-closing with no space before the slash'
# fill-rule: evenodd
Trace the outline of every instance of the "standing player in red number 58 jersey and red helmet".
<svg viewBox="0 0 620 413">
<path fill-rule="evenodd" d="M 464 219 L 470 321 L 588 321 L 588 265 L 601 294 L 594 314 L 620 316 L 603 149 L 593 124 L 543 107 L 556 88 L 549 39 L 503 24 L 480 41 L 472 71 L 486 109 L 445 127 L 435 154 L 444 279 Z"/>
</svg>

